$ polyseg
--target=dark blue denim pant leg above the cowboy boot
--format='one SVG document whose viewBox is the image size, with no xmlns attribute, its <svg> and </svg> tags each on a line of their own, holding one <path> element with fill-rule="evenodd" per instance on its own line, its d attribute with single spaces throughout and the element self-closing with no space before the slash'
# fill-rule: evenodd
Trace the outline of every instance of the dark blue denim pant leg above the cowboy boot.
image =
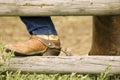
<svg viewBox="0 0 120 80">
<path fill-rule="evenodd" d="M 20 17 L 21 20 L 26 25 L 29 33 L 31 35 L 48 35 L 57 34 L 55 26 L 50 18 L 50 16 L 45 17 Z"/>
</svg>

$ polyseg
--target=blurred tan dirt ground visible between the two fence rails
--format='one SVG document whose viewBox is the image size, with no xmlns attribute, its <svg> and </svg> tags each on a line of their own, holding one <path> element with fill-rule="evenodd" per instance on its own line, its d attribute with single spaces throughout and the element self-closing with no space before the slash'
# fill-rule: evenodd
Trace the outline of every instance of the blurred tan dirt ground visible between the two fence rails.
<svg viewBox="0 0 120 80">
<path fill-rule="evenodd" d="M 54 16 L 52 20 L 63 49 L 67 49 L 74 56 L 89 53 L 92 44 L 91 16 Z M 0 38 L 3 44 L 26 41 L 29 37 L 19 17 L 0 17 Z"/>
</svg>

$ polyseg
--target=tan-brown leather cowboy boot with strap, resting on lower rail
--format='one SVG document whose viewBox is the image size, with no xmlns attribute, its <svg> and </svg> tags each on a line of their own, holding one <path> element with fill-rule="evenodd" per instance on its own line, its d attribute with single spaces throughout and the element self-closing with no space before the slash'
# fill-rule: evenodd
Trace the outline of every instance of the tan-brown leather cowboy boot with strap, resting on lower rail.
<svg viewBox="0 0 120 80">
<path fill-rule="evenodd" d="M 36 35 L 31 36 L 27 42 L 8 44 L 4 47 L 6 52 L 14 51 L 15 56 L 58 56 L 61 47 L 60 40 L 48 40 Z"/>
</svg>

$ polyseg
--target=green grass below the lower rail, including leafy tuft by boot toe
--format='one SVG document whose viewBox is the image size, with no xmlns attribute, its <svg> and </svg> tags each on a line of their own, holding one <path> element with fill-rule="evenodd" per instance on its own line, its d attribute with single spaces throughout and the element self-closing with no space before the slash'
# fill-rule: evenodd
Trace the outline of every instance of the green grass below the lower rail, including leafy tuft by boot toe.
<svg viewBox="0 0 120 80">
<path fill-rule="evenodd" d="M 5 50 L 0 43 L 1 66 L 4 65 L 13 56 L 13 52 L 5 53 Z M 12 65 L 12 64 L 10 64 Z M 8 65 L 9 66 L 9 65 Z M 104 73 L 101 74 L 22 74 L 21 71 L 8 72 L 7 68 L 0 67 L 0 80 L 120 80 L 120 75 L 109 74 L 110 66 Z"/>
</svg>

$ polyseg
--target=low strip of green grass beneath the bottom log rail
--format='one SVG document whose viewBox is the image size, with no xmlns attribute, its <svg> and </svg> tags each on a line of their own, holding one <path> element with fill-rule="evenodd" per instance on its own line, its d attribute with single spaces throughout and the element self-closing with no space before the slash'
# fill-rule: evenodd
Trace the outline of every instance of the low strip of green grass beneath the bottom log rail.
<svg viewBox="0 0 120 80">
<path fill-rule="evenodd" d="M 108 80 L 109 76 L 92 74 L 22 74 L 17 72 L 6 72 L 0 75 L 0 80 Z M 120 80 L 120 76 L 114 75 L 111 80 Z"/>
</svg>

